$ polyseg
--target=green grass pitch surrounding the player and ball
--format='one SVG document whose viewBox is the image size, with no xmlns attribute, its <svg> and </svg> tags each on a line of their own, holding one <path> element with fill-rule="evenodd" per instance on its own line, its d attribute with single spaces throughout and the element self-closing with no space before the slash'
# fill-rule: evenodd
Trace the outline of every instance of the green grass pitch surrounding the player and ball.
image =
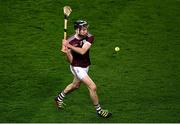
<svg viewBox="0 0 180 124">
<path fill-rule="evenodd" d="M 97 117 L 83 84 L 66 110 L 54 106 L 72 80 L 65 5 L 68 34 L 85 19 L 95 35 L 89 75 L 111 118 Z M 180 0 L 0 0 L 0 122 L 180 122 L 179 49 Z"/>
</svg>

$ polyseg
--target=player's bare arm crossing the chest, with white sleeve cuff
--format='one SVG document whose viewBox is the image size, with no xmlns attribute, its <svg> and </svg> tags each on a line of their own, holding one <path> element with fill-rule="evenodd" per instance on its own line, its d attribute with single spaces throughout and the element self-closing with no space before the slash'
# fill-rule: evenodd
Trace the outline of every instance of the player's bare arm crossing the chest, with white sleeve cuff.
<svg viewBox="0 0 180 124">
<path fill-rule="evenodd" d="M 88 51 L 88 49 L 91 47 L 91 43 L 89 43 L 89 42 L 84 43 L 82 48 L 75 47 L 66 41 L 64 42 L 64 45 L 67 46 L 68 48 L 70 48 L 71 50 L 81 54 L 81 55 L 84 55 Z"/>
</svg>

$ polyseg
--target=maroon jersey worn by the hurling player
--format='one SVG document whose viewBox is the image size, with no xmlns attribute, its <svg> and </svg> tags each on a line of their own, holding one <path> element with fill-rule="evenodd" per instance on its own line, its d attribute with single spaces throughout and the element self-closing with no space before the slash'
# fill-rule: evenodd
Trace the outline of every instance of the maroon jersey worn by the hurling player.
<svg viewBox="0 0 180 124">
<path fill-rule="evenodd" d="M 94 41 L 94 36 L 88 33 L 88 35 L 85 38 L 77 39 L 75 37 L 75 35 L 73 35 L 70 38 L 68 38 L 68 41 L 69 41 L 69 44 L 71 44 L 75 47 L 82 48 L 83 44 L 86 42 L 92 44 Z M 91 65 L 91 61 L 90 61 L 90 57 L 89 57 L 89 50 L 84 55 L 74 52 L 73 50 L 71 51 L 71 53 L 73 56 L 73 61 L 71 63 L 72 66 L 85 68 L 85 67 Z"/>
</svg>

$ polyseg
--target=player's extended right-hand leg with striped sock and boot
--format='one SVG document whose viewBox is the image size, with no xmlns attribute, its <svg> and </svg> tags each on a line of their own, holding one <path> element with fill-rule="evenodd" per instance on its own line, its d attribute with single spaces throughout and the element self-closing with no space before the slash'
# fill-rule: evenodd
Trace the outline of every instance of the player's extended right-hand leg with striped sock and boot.
<svg viewBox="0 0 180 124">
<path fill-rule="evenodd" d="M 101 109 L 101 106 L 99 104 L 98 95 L 96 93 L 96 84 L 92 81 L 92 79 L 86 75 L 82 81 L 87 85 L 89 89 L 89 94 L 92 99 L 92 102 L 96 108 L 97 114 L 101 117 L 108 118 L 112 115 L 111 112 L 108 112 L 108 110 Z"/>
</svg>

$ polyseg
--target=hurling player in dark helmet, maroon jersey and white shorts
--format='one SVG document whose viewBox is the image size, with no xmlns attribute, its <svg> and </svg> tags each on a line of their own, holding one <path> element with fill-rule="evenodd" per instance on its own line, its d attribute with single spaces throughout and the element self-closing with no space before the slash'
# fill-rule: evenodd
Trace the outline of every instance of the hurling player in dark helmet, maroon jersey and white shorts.
<svg viewBox="0 0 180 124">
<path fill-rule="evenodd" d="M 83 20 L 77 20 L 74 23 L 75 34 L 67 40 L 63 40 L 66 47 L 66 56 L 70 62 L 70 70 L 74 76 L 72 83 L 67 85 L 65 89 L 58 94 L 55 102 L 58 108 L 63 108 L 64 97 L 77 89 L 81 83 L 84 83 L 90 94 L 90 98 L 99 116 L 108 118 L 112 115 L 108 110 L 101 108 L 98 95 L 96 93 L 96 84 L 88 75 L 89 66 L 91 65 L 89 51 L 94 41 L 92 34 L 88 32 L 88 23 Z"/>
</svg>

